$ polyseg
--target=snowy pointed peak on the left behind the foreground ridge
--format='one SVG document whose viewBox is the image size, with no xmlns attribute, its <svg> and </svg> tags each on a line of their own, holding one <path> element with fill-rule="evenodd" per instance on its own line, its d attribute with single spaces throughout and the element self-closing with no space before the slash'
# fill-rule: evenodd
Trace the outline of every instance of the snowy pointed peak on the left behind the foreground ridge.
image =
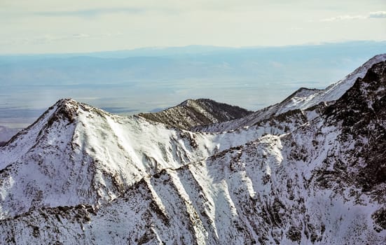
<svg viewBox="0 0 386 245">
<path fill-rule="evenodd" d="M 32 207 L 109 202 L 146 175 L 207 158 L 261 134 L 170 130 L 63 99 L 1 148 L 0 217 Z"/>
</svg>

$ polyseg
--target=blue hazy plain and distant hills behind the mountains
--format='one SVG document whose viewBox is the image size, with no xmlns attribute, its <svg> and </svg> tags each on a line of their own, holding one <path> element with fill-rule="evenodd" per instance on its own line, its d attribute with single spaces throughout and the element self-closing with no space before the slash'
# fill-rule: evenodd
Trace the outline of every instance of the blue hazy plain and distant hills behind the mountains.
<svg viewBox="0 0 386 245">
<path fill-rule="evenodd" d="M 198 98 L 256 111 L 299 87 L 322 89 L 383 52 L 386 41 L 2 55 L 0 125 L 25 127 L 63 97 L 123 115 Z"/>
</svg>

